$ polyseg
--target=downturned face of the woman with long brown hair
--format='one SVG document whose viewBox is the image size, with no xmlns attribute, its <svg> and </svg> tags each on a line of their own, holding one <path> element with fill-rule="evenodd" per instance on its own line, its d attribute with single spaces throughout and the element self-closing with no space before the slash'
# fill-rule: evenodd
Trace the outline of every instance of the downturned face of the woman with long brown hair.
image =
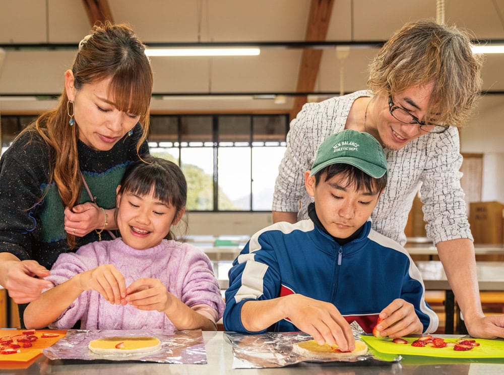
<svg viewBox="0 0 504 375">
<path fill-rule="evenodd" d="M 67 96 L 74 102 L 74 126 L 79 127 L 79 139 L 98 151 L 110 150 L 140 118 L 136 113 L 117 110 L 114 98 L 107 96 L 110 80 L 85 84 L 77 90 L 72 72 L 65 74 Z"/>
</svg>

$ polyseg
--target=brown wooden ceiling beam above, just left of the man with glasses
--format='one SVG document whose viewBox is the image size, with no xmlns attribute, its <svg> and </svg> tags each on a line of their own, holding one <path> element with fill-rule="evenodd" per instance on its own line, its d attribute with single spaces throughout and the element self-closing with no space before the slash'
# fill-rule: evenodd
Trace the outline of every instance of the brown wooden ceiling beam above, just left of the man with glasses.
<svg viewBox="0 0 504 375">
<path fill-rule="evenodd" d="M 326 40 L 333 4 L 334 0 L 311 0 L 308 25 L 306 26 L 306 41 Z M 303 49 L 296 92 L 311 92 L 314 90 L 321 59 L 322 49 Z M 296 117 L 306 101 L 306 96 L 296 96 L 290 112 L 291 119 Z"/>
</svg>

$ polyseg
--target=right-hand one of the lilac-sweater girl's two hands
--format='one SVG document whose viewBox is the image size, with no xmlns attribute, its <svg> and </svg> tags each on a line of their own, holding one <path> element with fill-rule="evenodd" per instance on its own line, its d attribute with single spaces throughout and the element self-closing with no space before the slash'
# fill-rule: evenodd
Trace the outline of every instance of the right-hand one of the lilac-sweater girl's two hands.
<svg viewBox="0 0 504 375">
<path fill-rule="evenodd" d="M 159 279 L 151 278 L 138 279 L 128 287 L 127 293 L 128 304 L 140 310 L 157 310 L 165 313 L 172 304 L 172 298 L 175 298 Z"/>
</svg>

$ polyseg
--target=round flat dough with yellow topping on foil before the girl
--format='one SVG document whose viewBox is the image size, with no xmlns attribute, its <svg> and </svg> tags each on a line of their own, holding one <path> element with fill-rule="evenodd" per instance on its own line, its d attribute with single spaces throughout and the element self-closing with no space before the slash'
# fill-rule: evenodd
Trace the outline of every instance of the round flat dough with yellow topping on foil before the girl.
<svg viewBox="0 0 504 375">
<path fill-rule="evenodd" d="M 120 343 L 124 343 L 124 347 L 116 348 L 115 346 Z M 142 354 L 159 350 L 161 342 L 155 337 L 116 336 L 93 340 L 89 343 L 88 347 L 89 350 L 96 354 Z"/>
</svg>

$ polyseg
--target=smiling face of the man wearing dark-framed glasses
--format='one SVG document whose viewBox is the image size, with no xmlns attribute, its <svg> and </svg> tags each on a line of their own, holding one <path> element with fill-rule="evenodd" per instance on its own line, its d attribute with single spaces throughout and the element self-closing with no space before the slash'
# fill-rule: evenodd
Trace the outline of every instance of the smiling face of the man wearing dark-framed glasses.
<svg viewBox="0 0 504 375">
<path fill-rule="evenodd" d="M 392 95 L 394 105 L 401 107 L 420 120 L 423 120 L 434 83 L 425 86 L 414 86 L 400 94 Z M 377 98 L 376 106 L 379 111 L 376 124 L 380 136 L 380 143 L 391 149 L 399 150 L 409 142 L 421 137 L 426 132 L 420 130 L 418 124 L 407 124 L 395 119 L 389 111 L 388 97 L 382 95 Z"/>
</svg>

